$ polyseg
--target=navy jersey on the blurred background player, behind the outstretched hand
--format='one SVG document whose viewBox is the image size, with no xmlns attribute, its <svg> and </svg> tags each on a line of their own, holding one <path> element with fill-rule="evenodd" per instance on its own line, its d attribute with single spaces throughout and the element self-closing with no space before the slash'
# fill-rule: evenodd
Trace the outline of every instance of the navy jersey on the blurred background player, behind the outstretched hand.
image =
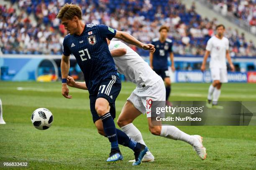
<svg viewBox="0 0 256 170">
<path fill-rule="evenodd" d="M 168 69 L 168 56 L 172 52 L 172 40 L 166 38 L 165 42 L 161 43 L 159 38 L 152 40 L 151 44 L 155 45 L 156 51 L 153 54 L 154 69 Z"/>
</svg>

